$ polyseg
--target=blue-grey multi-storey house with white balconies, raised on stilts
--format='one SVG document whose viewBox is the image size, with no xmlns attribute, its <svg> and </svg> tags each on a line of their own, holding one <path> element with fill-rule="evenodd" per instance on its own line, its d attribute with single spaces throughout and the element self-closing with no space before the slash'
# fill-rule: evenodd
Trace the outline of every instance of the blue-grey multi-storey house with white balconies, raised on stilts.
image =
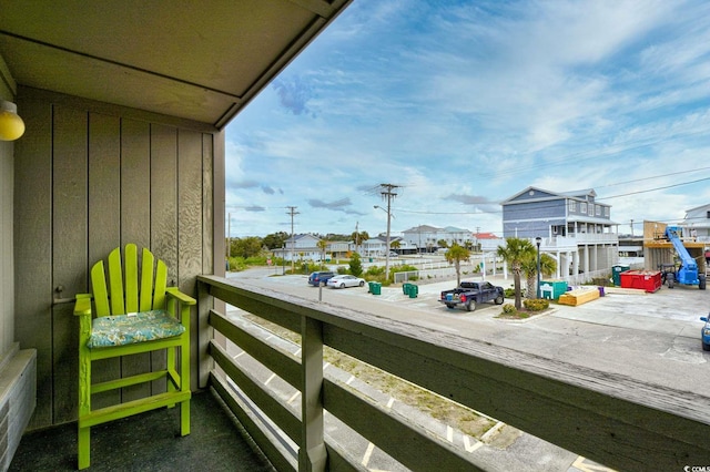
<svg viewBox="0 0 710 472">
<path fill-rule="evenodd" d="M 610 270 L 618 261 L 611 206 L 594 189 L 550 192 L 527 187 L 501 203 L 504 237 L 540 237 L 540 250 L 557 260 L 556 277 Z"/>
</svg>

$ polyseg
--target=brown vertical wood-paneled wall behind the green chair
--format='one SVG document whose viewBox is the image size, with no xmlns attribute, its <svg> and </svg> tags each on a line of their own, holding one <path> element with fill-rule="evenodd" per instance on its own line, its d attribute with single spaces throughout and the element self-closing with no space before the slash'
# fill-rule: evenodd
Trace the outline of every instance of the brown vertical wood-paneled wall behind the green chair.
<svg viewBox="0 0 710 472">
<path fill-rule="evenodd" d="M 214 150 L 223 148 L 223 134 L 33 89 L 21 90 L 18 101 L 27 132 L 14 166 L 16 339 L 38 350 L 34 429 L 77 418 L 78 324 L 73 304 L 57 299 L 87 293 L 93 263 L 136 243 L 165 260 L 169 283 L 191 295 L 195 277 L 212 273 Z M 106 361 L 97 372 L 112 377 L 164 361 L 133 356 Z M 146 390 L 121 394 L 130 400 Z M 94 402 L 114 402 L 116 394 Z"/>
</svg>

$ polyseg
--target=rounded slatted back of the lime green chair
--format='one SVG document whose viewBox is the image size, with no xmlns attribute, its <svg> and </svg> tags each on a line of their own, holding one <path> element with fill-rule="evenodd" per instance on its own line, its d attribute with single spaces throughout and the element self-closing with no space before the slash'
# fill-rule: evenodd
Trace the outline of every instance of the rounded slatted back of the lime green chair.
<svg viewBox="0 0 710 472">
<path fill-rule="evenodd" d="M 113 249 L 109 254 L 109 285 L 105 276 L 103 260 L 99 260 L 91 268 L 97 316 L 125 315 L 164 307 L 168 266 L 160 259 L 155 264 L 155 256 L 146 248 L 143 248 L 140 274 L 138 247 L 134 244 L 125 245 L 123 264 L 121 248 Z"/>
</svg>

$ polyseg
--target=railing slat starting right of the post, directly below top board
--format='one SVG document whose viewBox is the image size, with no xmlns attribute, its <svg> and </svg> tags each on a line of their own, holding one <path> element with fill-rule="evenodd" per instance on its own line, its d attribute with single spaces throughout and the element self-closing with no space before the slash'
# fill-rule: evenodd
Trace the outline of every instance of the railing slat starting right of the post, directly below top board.
<svg viewBox="0 0 710 472">
<path fill-rule="evenodd" d="M 323 406 L 341 421 L 412 470 L 483 471 L 452 444 L 384 409 L 353 394 L 329 379 L 323 384 Z"/>
</svg>

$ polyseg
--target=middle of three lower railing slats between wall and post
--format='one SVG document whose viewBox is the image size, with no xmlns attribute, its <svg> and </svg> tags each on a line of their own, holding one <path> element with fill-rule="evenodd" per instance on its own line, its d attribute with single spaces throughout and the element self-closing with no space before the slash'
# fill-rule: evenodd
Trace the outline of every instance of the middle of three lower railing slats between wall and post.
<svg viewBox="0 0 710 472">
<path fill-rule="evenodd" d="M 301 441 L 301 419 L 277 398 L 264 389 L 262 383 L 230 359 L 226 350 L 215 342 L 210 343 L 210 355 L 239 388 L 258 407 L 268 412 L 276 423 L 294 442 Z"/>
</svg>

